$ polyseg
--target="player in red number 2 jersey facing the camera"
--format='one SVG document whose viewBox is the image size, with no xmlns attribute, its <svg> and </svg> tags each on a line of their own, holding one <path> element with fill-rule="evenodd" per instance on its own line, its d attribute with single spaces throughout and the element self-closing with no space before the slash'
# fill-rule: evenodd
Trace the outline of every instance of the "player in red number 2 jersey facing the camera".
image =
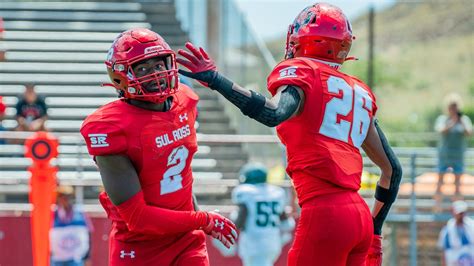
<svg viewBox="0 0 474 266">
<path fill-rule="evenodd" d="M 237 233 L 193 200 L 198 96 L 179 83 L 175 53 L 148 29 L 121 33 L 105 63 L 121 99 L 89 115 L 81 134 L 105 187 L 110 265 L 209 265 L 204 233 L 227 247 Z"/>
</svg>

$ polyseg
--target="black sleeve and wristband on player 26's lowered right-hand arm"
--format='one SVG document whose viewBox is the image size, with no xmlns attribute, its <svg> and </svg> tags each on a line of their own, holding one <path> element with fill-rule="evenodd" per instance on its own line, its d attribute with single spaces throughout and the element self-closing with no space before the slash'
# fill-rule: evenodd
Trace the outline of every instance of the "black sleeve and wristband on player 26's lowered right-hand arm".
<svg viewBox="0 0 474 266">
<path fill-rule="evenodd" d="M 390 207 L 392 206 L 398 194 L 398 188 L 400 187 L 400 182 L 402 180 L 402 167 L 398 161 L 397 156 L 390 147 L 390 144 L 388 144 L 382 129 L 380 129 L 377 120 L 374 121 L 374 124 L 380 136 L 380 141 L 382 142 L 385 154 L 392 165 L 392 176 L 390 177 L 389 189 L 377 186 L 375 192 L 375 198 L 384 203 L 379 213 L 374 217 L 374 234 L 381 235 L 382 225 L 387 218 Z"/>
</svg>

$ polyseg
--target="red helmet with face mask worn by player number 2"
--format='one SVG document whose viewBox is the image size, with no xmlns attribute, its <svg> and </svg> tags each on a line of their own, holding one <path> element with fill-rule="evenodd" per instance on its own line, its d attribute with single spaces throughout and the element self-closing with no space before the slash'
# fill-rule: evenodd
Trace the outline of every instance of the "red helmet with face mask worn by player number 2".
<svg viewBox="0 0 474 266">
<path fill-rule="evenodd" d="M 161 58 L 166 70 L 137 77 L 133 65 L 153 57 Z M 127 99 L 161 103 L 178 89 L 176 54 L 159 34 L 148 29 L 137 28 L 121 33 L 110 47 L 105 65 L 112 81 L 106 85 L 115 87 Z M 162 86 L 158 91 L 149 92 L 143 86 L 149 82 Z"/>
</svg>

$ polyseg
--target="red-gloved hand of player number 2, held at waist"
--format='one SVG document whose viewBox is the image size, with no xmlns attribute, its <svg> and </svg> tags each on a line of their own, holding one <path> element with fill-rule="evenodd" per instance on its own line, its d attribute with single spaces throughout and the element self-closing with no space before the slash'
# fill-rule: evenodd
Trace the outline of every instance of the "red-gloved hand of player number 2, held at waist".
<svg viewBox="0 0 474 266">
<path fill-rule="evenodd" d="M 231 220 L 216 211 L 211 211 L 207 213 L 207 221 L 208 224 L 202 227 L 206 234 L 221 241 L 227 248 L 237 242 L 237 228 Z"/>
</svg>

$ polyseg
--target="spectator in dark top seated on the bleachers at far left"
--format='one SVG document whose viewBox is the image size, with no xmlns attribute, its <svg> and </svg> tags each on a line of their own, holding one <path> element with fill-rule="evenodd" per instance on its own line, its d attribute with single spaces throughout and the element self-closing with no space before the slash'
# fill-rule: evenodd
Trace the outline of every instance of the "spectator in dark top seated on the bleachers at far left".
<svg viewBox="0 0 474 266">
<path fill-rule="evenodd" d="M 33 84 L 25 85 L 25 92 L 16 104 L 17 131 L 46 131 L 48 107 L 43 97 L 36 94 Z"/>
</svg>

